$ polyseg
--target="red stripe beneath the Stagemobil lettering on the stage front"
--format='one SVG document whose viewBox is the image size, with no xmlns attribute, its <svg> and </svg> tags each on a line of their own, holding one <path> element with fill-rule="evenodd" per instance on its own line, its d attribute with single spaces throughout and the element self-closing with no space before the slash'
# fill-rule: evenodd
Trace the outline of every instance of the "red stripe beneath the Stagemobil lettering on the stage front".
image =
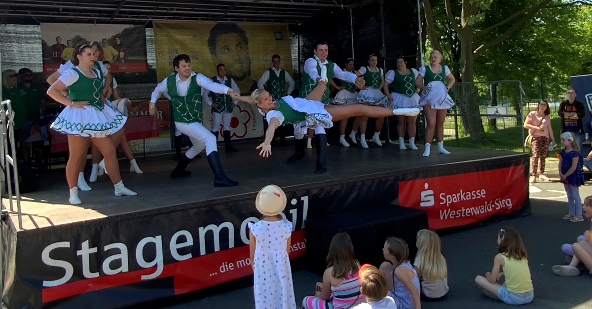
<svg viewBox="0 0 592 309">
<path fill-rule="evenodd" d="M 306 253 L 305 230 L 292 233 L 290 259 L 303 257 Z M 156 267 L 141 271 L 123 272 L 117 275 L 85 279 L 69 284 L 43 289 L 43 302 L 59 300 L 86 292 L 134 284 L 143 281 L 142 276 L 157 271 Z M 251 275 L 253 269 L 249 258 L 249 246 L 218 251 L 165 265 L 156 278 L 173 277 L 175 295 L 184 294 Z M 154 278 L 154 279 L 156 279 Z"/>
</svg>

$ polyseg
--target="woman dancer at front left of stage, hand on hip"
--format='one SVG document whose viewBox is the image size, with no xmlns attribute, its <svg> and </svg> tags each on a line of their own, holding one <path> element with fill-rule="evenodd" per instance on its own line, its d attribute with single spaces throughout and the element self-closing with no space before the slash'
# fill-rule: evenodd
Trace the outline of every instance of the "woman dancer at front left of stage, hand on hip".
<svg viewBox="0 0 592 309">
<path fill-rule="evenodd" d="M 105 157 L 105 166 L 115 185 L 115 196 L 136 195 L 136 192 L 123 185 L 115 146 L 108 138 L 123 128 L 127 117 L 109 105 L 105 106 L 101 95 L 103 76 L 101 70 L 94 69 L 94 62 L 92 47 L 83 44 L 76 49 L 75 59 L 72 59 L 72 63 L 77 66 L 63 73 L 47 90 L 54 100 L 66 105 L 52 124 L 52 129 L 68 134 L 70 157 L 66 164 L 66 178 L 72 205 L 82 204 L 78 197 L 78 178 L 81 161 L 86 159 L 89 139 Z M 66 89 L 70 98 L 63 94 Z"/>
</svg>

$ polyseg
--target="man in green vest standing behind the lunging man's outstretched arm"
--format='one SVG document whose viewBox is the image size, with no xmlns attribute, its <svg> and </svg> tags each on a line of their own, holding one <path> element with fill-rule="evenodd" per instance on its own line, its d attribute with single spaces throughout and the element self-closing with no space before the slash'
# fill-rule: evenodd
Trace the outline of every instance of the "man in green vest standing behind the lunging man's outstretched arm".
<svg viewBox="0 0 592 309">
<path fill-rule="evenodd" d="M 234 79 L 226 76 L 226 66 L 224 63 L 218 64 L 216 66 L 216 71 L 218 72 L 218 75 L 212 78 L 213 82 L 226 85 L 227 87 L 232 88 L 237 94 L 240 94 L 240 88 L 236 85 Z M 230 95 L 215 94 L 208 90 L 205 90 L 202 95 L 205 104 L 212 107 L 212 117 L 214 118 L 212 134 L 214 134 L 216 140 L 218 140 L 218 132 L 220 132 L 220 124 L 222 124 L 222 135 L 224 136 L 224 144 L 226 144 L 226 152 L 239 151 L 230 143 L 230 121 L 232 120 L 232 111 L 239 102 L 233 101 Z"/>
</svg>

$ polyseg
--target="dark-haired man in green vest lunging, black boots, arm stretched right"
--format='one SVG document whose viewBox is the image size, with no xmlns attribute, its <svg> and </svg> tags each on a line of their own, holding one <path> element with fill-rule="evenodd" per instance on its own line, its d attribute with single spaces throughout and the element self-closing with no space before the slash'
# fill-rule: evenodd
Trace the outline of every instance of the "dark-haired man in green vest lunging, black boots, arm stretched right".
<svg viewBox="0 0 592 309">
<path fill-rule="evenodd" d="M 175 127 L 181 133 L 191 139 L 193 146 L 179 159 L 177 167 L 170 173 L 172 178 L 191 175 L 186 170 L 187 165 L 198 153 L 205 148 L 210 168 L 214 172 L 214 186 L 237 186 L 238 182 L 231 180 L 224 174 L 220 163 L 218 148 L 214 134 L 202 124 L 203 110 L 201 103 L 202 88 L 215 94 L 228 94 L 237 96 L 232 88 L 220 83 L 215 83 L 202 74 L 196 74 L 191 70 L 191 58 L 186 54 L 180 54 L 173 59 L 173 69 L 176 73 L 165 78 L 156 85 L 150 99 L 150 115 L 156 115 L 156 101 L 161 95 L 170 99 L 173 107 L 173 119 Z"/>
</svg>

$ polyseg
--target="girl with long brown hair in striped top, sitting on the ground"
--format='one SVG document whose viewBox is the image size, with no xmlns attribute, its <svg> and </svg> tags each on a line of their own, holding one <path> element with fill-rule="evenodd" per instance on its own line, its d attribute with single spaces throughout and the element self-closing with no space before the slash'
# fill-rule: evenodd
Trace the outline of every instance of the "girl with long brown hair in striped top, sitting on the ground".
<svg viewBox="0 0 592 309">
<path fill-rule="evenodd" d="M 314 296 L 304 297 L 305 309 L 351 308 L 365 297 L 360 293 L 358 270 L 360 264 L 353 253 L 348 233 L 333 236 L 327 255 L 327 269 L 323 282 L 317 282 Z"/>
</svg>

